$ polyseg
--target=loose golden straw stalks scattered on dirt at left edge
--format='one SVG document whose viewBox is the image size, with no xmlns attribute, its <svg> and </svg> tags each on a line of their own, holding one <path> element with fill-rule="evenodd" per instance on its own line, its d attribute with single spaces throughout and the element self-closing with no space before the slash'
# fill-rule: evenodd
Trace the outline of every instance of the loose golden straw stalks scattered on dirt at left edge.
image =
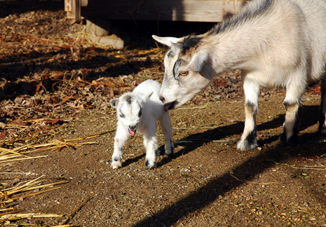
<svg viewBox="0 0 326 227">
<path fill-rule="evenodd" d="M 106 132 L 101 132 L 95 135 L 89 135 L 87 137 L 81 137 L 76 139 L 62 139 L 62 140 L 52 139 L 46 142 L 45 144 L 27 144 L 27 145 L 18 146 L 13 149 L 0 148 L 0 152 L 1 152 L 0 163 L 13 163 L 21 160 L 30 160 L 34 158 L 48 157 L 48 156 L 31 156 L 32 153 L 36 153 L 40 151 L 49 151 L 53 149 L 60 151 L 64 147 L 76 147 L 76 146 L 83 146 L 86 144 L 97 144 L 96 142 L 79 142 L 79 141 L 98 137 L 100 135 L 106 134 L 108 132 L 112 132 L 114 130 L 109 130 Z M 58 184 L 67 183 L 67 181 L 58 181 L 50 184 L 43 184 L 45 180 L 41 179 L 42 177 L 44 176 L 37 177 L 36 179 L 33 179 L 31 181 L 25 181 L 25 182 L 18 181 L 19 183 L 15 184 L 15 186 L 9 183 L 0 182 L 0 207 L 2 208 L 0 209 L 0 224 L 6 225 L 6 224 L 10 224 L 11 221 L 16 221 L 20 219 L 53 218 L 53 217 L 60 218 L 63 216 L 63 214 L 36 214 L 36 213 L 18 214 L 22 212 L 23 209 L 14 209 L 13 207 L 11 207 L 11 202 L 23 198 L 28 198 L 34 195 L 39 195 L 41 193 L 46 193 L 47 191 L 59 189 L 61 188 L 60 186 L 59 187 L 55 187 L 55 186 Z M 39 191 L 41 189 L 43 190 Z M 31 191 L 34 192 L 26 194 L 26 192 L 31 192 Z M 20 195 L 14 196 L 17 194 Z M 60 227 L 71 226 L 71 225 L 65 225 L 64 223 L 66 223 L 72 216 L 73 214 L 70 214 L 66 219 L 66 221 L 62 222 L 62 225 L 60 225 Z"/>
</svg>

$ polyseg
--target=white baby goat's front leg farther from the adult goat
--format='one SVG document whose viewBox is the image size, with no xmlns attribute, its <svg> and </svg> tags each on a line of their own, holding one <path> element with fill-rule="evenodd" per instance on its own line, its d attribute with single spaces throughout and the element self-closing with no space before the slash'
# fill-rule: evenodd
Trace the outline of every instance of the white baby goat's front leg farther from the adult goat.
<svg viewBox="0 0 326 227">
<path fill-rule="evenodd" d="M 116 169 L 121 167 L 123 145 L 129 137 L 128 131 L 123 125 L 118 125 L 116 128 L 116 136 L 114 137 L 114 152 L 112 155 L 111 167 Z"/>
</svg>

